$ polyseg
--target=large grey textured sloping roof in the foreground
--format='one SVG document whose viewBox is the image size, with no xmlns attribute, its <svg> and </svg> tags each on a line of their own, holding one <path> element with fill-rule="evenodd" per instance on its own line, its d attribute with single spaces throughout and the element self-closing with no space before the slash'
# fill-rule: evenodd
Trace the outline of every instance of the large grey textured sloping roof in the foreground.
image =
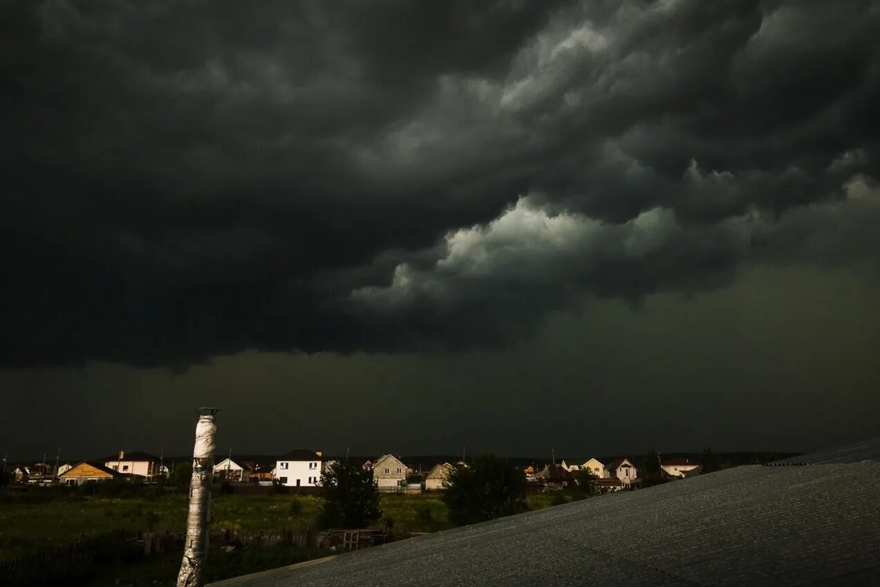
<svg viewBox="0 0 880 587">
<path fill-rule="evenodd" d="M 880 463 L 740 466 L 216 584 L 877 585 Z"/>
</svg>

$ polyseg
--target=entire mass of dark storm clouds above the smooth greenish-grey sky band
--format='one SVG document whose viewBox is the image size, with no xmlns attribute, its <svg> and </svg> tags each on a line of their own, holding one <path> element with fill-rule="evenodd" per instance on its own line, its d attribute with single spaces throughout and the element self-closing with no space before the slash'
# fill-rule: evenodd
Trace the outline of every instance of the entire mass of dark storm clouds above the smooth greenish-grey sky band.
<svg viewBox="0 0 880 587">
<path fill-rule="evenodd" d="M 5 3 L 5 366 L 880 269 L 880 3 Z"/>
</svg>

